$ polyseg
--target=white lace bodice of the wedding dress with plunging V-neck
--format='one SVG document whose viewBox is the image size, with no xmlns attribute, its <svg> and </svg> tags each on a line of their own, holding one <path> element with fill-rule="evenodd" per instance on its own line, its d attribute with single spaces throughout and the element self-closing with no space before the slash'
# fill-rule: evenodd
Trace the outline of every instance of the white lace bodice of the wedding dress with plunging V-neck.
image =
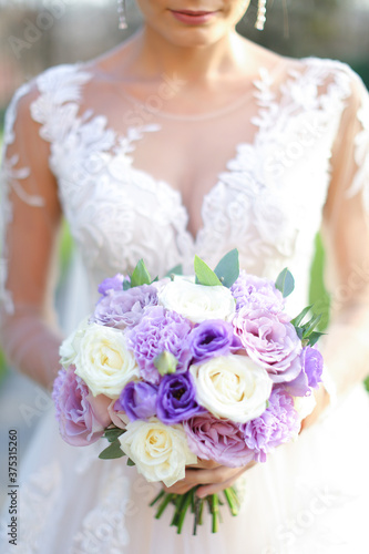
<svg viewBox="0 0 369 554">
<path fill-rule="evenodd" d="M 163 276 L 177 264 L 192 273 L 195 254 L 214 266 L 237 247 L 249 273 L 275 279 L 288 266 L 296 277 L 295 299 L 304 304 L 330 158 L 352 79 L 344 64 L 307 59 L 276 89 L 262 69 L 253 84 L 253 140 L 245 132 L 245 142 L 237 141 L 234 156 L 204 195 L 202 226 L 193 236 L 181 193 L 135 164 L 141 142 L 154 148 L 161 134 L 171 134 L 173 122 L 152 112 L 147 123 L 117 133 L 105 115 L 81 111 L 91 81 L 85 66 L 62 65 L 41 74 L 31 114 L 50 142 L 50 167 L 92 296 L 102 278 L 132 270 L 140 258 L 153 276 Z M 23 93 L 27 86 L 19 95 Z M 9 112 L 10 143 L 16 103 Z M 238 107 L 237 117 L 242 114 Z M 181 125 L 186 122 L 176 122 L 178 138 Z M 175 148 L 175 136 L 168 140 Z"/>
</svg>

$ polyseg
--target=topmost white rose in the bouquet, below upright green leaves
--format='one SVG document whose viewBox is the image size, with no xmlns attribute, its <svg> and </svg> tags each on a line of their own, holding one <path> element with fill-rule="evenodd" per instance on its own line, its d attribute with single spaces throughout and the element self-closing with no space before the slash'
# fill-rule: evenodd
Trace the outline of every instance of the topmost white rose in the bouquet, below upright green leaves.
<svg viewBox="0 0 369 554">
<path fill-rule="evenodd" d="M 158 301 L 194 324 L 206 319 L 227 319 L 235 312 L 235 299 L 227 287 L 195 285 L 186 278 L 174 279 L 160 293 Z"/>
</svg>

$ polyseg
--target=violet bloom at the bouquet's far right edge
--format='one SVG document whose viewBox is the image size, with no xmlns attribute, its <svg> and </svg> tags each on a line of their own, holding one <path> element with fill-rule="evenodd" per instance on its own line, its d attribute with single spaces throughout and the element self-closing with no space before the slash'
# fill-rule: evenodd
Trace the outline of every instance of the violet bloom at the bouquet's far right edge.
<svg viewBox="0 0 369 554">
<path fill-rule="evenodd" d="M 311 394 L 311 388 L 317 389 L 321 382 L 324 360 L 319 350 L 309 346 L 303 349 L 299 359 L 301 371 L 284 388 L 294 397 L 306 397 Z"/>
</svg>

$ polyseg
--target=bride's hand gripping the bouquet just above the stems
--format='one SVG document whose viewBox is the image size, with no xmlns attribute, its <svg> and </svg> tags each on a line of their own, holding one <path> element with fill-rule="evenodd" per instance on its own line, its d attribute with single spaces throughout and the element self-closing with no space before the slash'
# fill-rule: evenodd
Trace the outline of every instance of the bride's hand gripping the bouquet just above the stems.
<svg viewBox="0 0 369 554">
<path fill-rule="evenodd" d="M 196 491 L 197 496 L 204 497 L 232 486 L 246 470 L 255 464 L 256 462 L 250 462 L 244 468 L 228 468 L 211 460 L 198 460 L 196 465 L 186 469 L 184 479 L 170 488 L 164 486 L 164 490 L 174 494 L 184 494 L 194 486 L 204 485 L 198 486 Z"/>
</svg>

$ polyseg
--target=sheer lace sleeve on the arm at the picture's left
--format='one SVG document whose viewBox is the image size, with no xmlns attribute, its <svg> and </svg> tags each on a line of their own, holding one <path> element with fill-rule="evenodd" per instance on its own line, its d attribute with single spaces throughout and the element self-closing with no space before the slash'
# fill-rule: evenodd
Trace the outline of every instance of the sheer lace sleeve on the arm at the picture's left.
<svg viewBox="0 0 369 554">
<path fill-rule="evenodd" d="M 6 116 L 0 171 L 0 328 L 9 361 L 48 387 L 59 358 L 51 269 L 61 211 L 48 165 L 49 144 L 31 117 L 37 96 L 35 86 L 22 86 Z"/>
</svg>

